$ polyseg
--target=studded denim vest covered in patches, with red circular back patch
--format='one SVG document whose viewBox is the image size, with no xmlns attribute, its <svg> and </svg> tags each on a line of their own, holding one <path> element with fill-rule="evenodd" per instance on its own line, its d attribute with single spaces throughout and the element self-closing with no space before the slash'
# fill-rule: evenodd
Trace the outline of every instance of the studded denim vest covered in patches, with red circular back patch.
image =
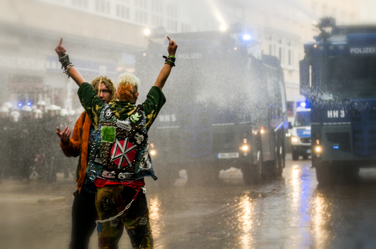
<svg viewBox="0 0 376 249">
<path fill-rule="evenodd" d="M 100 124 L 89 137 L 92 143 L 86 172 L 109 181 L 132 181 L 155 176 L 149 155 L 145 113 L 141 105 L 126 120 L 113 115 L 108 104 L 100 113 Z M 90 146 L 89 146 L 90 148 Z"/>
</svg>

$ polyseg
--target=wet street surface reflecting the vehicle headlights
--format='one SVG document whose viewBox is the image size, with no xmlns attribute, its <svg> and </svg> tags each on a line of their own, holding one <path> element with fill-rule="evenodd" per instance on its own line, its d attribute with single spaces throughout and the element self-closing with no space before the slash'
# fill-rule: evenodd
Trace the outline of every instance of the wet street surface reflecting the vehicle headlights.
<svg viewBox="0 0 376 249">
<path fill-rule="evenodd" d="M 362 169 L 359 186 L 320 187 L 310 160 L 288 158 L 282 177 L 260 186 L 238 178 L 232 184 L 165 189 L 147 181 L 154 247 L 376 248 L 376 169 Z M 66 196 L 50 204 L 0 204 L 0 247 L 68 248 L 74 190 L 72 180 L 0 184 L 0 198 Z M 90 248 L 97 248 L 96 232 Z M 126 234 L 119 248 L 132 248 Z"/>
</svg>

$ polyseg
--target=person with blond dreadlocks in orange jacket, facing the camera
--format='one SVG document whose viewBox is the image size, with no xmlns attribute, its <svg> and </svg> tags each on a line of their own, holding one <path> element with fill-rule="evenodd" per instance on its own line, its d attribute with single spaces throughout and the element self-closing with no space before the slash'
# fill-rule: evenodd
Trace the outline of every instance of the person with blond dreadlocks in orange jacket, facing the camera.
<svg viewBox="0 0 376 249">
<path fill-rule="evenodd" d="M 116 100 L 115 87 L 107 77 L 97 77 L 91 81 L 91 86 L 101 101 L 110 103 Z M 86 111 L 82 112 L 71 130 L 65 127 L 63 131 L 57 127 L 56 133 L 60 137 L 60 146 L 65 156 L 78 157 L 76 170 L 77 191 L 73 193 L 74 201 L 72 206 L 72 233 L 70 249 L 87 249 L 90 236 L 96 228 L 97 209 L 95 196 L 97 187 L 86 174 L 89 150 L 92 142 L 89 143 L 89 136 L 95 131 Z"/>
</svg>

